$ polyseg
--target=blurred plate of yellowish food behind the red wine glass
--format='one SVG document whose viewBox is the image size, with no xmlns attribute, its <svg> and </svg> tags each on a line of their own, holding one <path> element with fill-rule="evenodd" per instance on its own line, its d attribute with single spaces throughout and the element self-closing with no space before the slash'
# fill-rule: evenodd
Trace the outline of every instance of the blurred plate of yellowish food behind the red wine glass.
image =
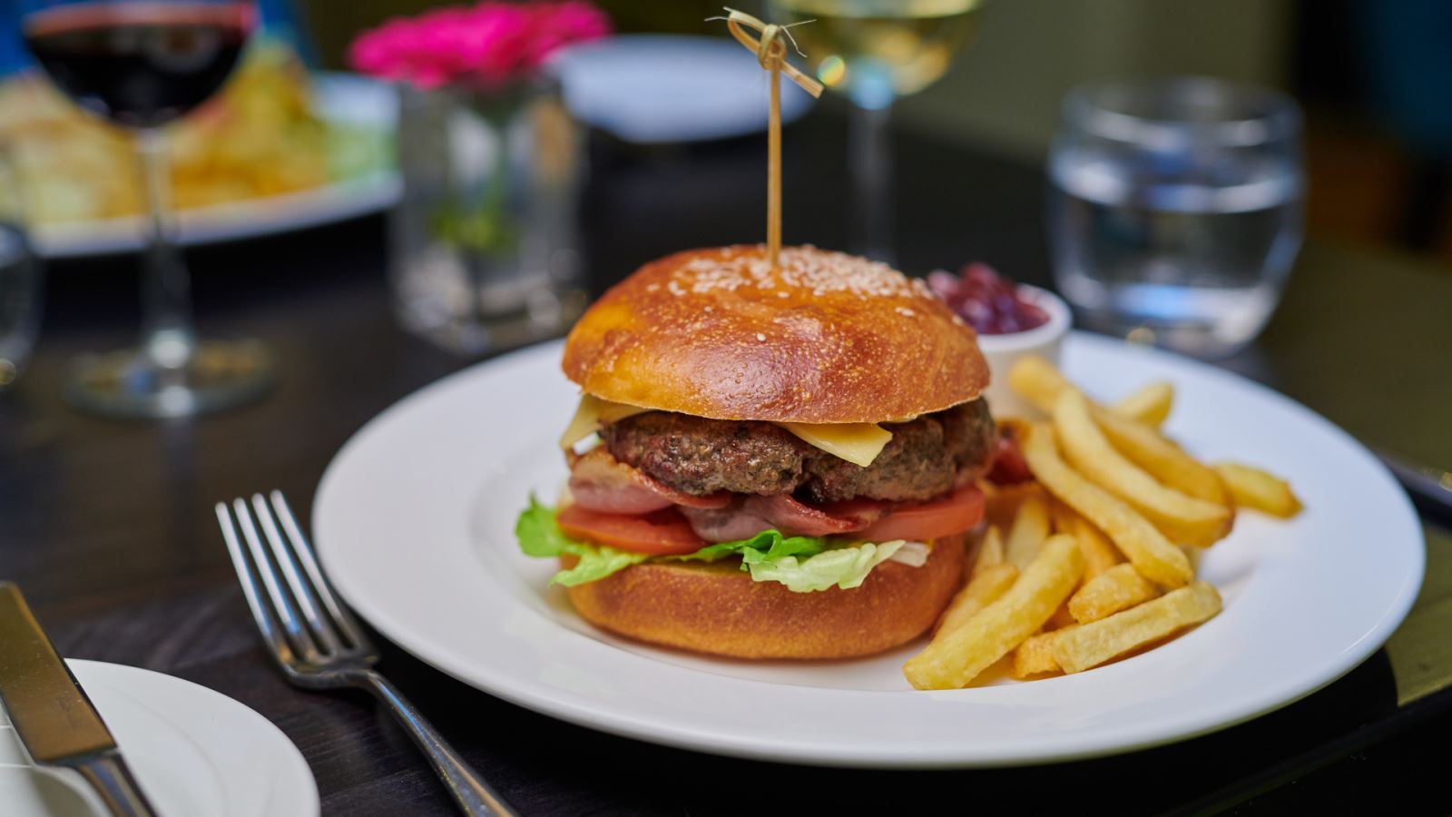
<svg viewBox="0 0 1452 817">
<path fill-rule="evenodd" d="M 309 76 L 277 44 L 248 51 L 211 105 L 168 129 L 183 244 L 247 238 L 376 212 L 398 199 L 393 90 Z M 35 243 L 48 257 L 138 250 L 144 208 L 121 131 L 86 116 L 44 76 L 0 86 Z"/>
</svg>

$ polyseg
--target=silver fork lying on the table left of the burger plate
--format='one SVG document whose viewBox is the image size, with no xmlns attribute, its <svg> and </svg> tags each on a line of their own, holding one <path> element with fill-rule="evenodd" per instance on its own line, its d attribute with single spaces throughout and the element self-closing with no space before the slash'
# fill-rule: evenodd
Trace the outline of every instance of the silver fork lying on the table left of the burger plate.
<svg viewBox="0 0 1452 817">
<path fill-rule="evenodd" d="M 216 520 L 257 629 L 287 680 L 308 689 L 367 689 L 408 730 L 460 811 L 469 816 L 515 814 L 418 709 L 373 670 L 378 650 L 353 613 L 333 595 L 287 500 L 282 491 L 272 491 L 269 499 L 270 507 L 261 494 L 253 494 L 251 512 L 241 497 L 232 500 L 231 510 L 219 502 Z"/>
</svg>

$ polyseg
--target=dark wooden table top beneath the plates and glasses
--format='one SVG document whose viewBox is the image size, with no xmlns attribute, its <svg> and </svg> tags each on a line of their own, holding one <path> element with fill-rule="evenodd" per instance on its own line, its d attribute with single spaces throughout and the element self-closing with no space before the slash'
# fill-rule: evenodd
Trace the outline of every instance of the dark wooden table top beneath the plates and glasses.
<svg viewBox="0 0 1452 817">
<path fill-rule="evenodd" d="M 983 259 L 1048 281 L 1038 167 L 922 138 L 903 137 L 897 148 L 905 269 Z M 762 234 L 756 140 L 639 151 L 595 138 L 591 154 L 582 211 L 595 289 L 671 250 Z M 788 241 L 844 244 L 844 163 L 833 116 L 788 129 Z M 450 814 L 408 738 L 367 698 L 283 683 L 260 650 L 211 507 L 277 487 L 306 519 L 318 477 L 348 435 L 469 361 L 395 326 L 380 218 L 197 249 L 190 260 L 203 330 L 266 340 L 282 362 L 280 387 L 260 404 L 195 422 L 73 411 L 60 398 L 67 359 L 132 339 L 136 279 L 129 259 L 55 265 L 33 366 L 0 395 L 0 579 L 20 583 L 64 654 L 186 677 L 270 718 L 311 763 L 325 814 Z M 1449 314 L 1448 270 L 1313 241 L 1265 336 L 1225 365 L 1369 443 L 1452 464 Z M 1342 680 L 1218 734 L 1056 766 L 861 772 L 722 759 L 553 721 L 391 645 L 383 669 L 527 814 L 1044 813 L 1076 804 L 1114 813 L 1448 813 L 1452 538 L 1429 526 L 1427 547 L 1429 579 L 1413 616 Z M 1366 548 L 1375 558 L 1376 542 Z"/>
</svg>

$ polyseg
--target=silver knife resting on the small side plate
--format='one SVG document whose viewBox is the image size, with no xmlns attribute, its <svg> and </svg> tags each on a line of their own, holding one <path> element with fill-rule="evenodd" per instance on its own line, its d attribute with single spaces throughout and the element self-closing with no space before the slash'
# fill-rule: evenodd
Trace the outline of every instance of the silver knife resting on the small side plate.
<svg viewBox="0 0 1452 817">
<path fill-rule="evenodd" d="M 0 581 L 0 702 L 30 760 L 80 772 L 118 817 L 155 816 L 116 738 L 10 581 Z"/>
</svg>

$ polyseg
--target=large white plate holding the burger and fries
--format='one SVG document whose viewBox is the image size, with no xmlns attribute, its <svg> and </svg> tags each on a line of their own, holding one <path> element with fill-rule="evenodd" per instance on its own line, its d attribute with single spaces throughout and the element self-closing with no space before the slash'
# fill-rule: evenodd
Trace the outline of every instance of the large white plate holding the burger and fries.
<svg viewBox="0 0 1452 817">
<path fill-rule="evenodd" d="M 466 369 L 364 426 L 328 467 L 314 529 L 347 600 L 379 631 L 479 689 L 587 727 L 768 760 L 993 766 L 1122 752 L 1284 707 L 1361 663 L 1422 584 L 1406 494 L 1345 432 L 1218 369 L 1073 334 L 1070 377 L 1101 397 L 1179 391 L 1169 432 L 1198 455 L 1295 484 L 1291 522 L 1256 513 L 1205 555 L 1224 612 L 1162 648 L 1076 676 L 913 692 L 893 653 L 829 663 L 726 661 L 594 631 L 555 567 L 518 552 L 529 493 L 565 478 L 555 439 L 576 403 L 560 346 Z M 784 625 L 788 622 L 783 622 Z"/>
</svg>

